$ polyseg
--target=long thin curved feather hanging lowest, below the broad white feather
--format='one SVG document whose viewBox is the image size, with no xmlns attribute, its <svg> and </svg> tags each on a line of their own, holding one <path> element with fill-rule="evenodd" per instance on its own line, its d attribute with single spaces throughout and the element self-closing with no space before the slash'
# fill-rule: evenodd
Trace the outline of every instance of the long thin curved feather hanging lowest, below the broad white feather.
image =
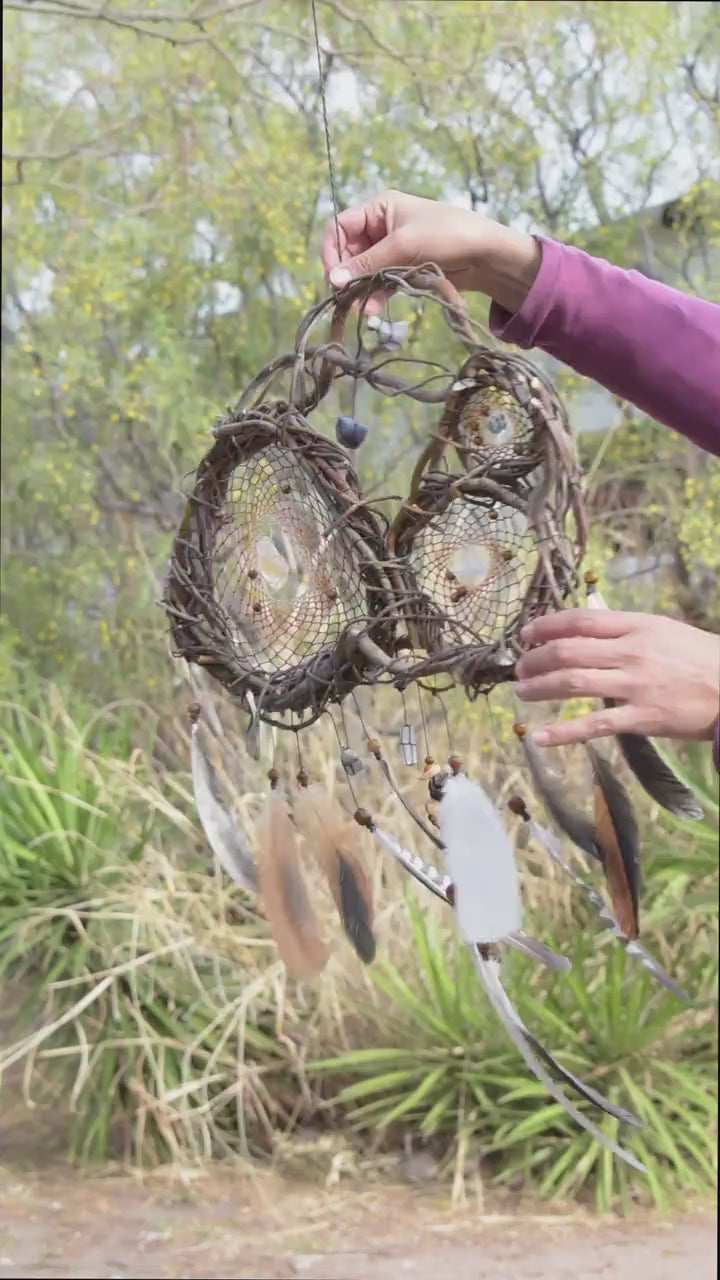
<svg viewBox="0 0 720 1280">
<path fill-rule="evenodd" d="M 618 1146 L 618 1143 L 612 1142 L 611 1138 L 603 1134 L 602 1130 L 598 1129 L 597 1125 L 592 1123 L 592 1120 L 588 1120 L 587 1116 L 584 1116 L 582 1111 L 578 1111 L 574 1103 L 565 1097 L 562 1089 L 555 1083 L 555 1080 L 548 1074 L 548 1071 L 546 1071 L 542 1061 L 539 1060 L 539 1056 L 537 1053 L 538 1042 L 528 1032 L 528 1028 L 525 1027 L 520 1015 L 518 1014 L 511 1001 L 509 1000 L 507 993 L 500 980 L 500 966 L 497 961 L 486 959 L 478 947 L 473 947 L 471 950 L 480 982 L 483 983 L 483 987 L 487 992 L 487 996 L 496 1014 L 502 1021 L 510 1039 L 512 1041 L 518 1051 L 521 1053 L 521 1056 L 524 1057 L 525 1062 L 528 1064 L 533 1074 L 537 1076 L 537 1079 L 542 1084 L 544 1084 L 551 1097 L 553 1097 L 555 1101 L 560 1103 L 562 1110 L 566 1111 L 569 1116 L 571 1116 L 575 1124 L 579 1124 L 580 1128 L 585 1129 L 587 1133 L 589 1133 L 597 1143 L 600 1143 L 607 1151 L 611 1151 L 612 1155 L 618 1156 L 620 1160 L 624 1160 L 633 1169 L 639 1170 L 639 1172 L 643 1174 L 647 1172 L 642 1161 L 639 1161 L 635 1156 L 633 1156 L 632 1152 L 625 1151 L 624 1147 L 620 1147 Z M 552 1059 L 552 1055 L 550 1055 L 547 1050 L 543 1050 L 543 1057 L 546 1057 L 548 1065 L 550 1062 L 552 1062 L 555 1069 L 560 1068 L 560 1064 L 555 1062 L 555 1059 Z M 564 1069 L 560 1070 L 564 1071 Z M 564 1074 L 565 1078 L 568 1078 L 568 1075 L 570 1075 L 571 1073 L 564 1071 Z M 588 1101 L 593 1102 L 594 1106 L 600 1106 L 601 1110 L 605 1111 L 606 1114 L 618 1116 L 618 1111 L 620 1108 L 614 1107 L 612 1103 L 610 1102 L 606 1102 L 606 1100 L 602 1098 L 601 1094 L 596 1093 L 594 1089 L 591 1089 L 589 1085 L 583 1085 L 582 1082 L 577 1080 L 575 1076 L 573 1076 L 573 1079 L 575 1080 L 574 1087 L 577 1087 L 578 1084 L 582 1085 L 583 1096 Z M 630 1120 L 632 1123 L 635 1124 L 638 1123 L 635 1121 L 635 1117 L 630 1115 L 630 1112 L 625 1111 L 623 1112 L 621 1116 L 618 1116 L 618 1119 L 623 1119 L 626 1121 Z"/>
</svg>

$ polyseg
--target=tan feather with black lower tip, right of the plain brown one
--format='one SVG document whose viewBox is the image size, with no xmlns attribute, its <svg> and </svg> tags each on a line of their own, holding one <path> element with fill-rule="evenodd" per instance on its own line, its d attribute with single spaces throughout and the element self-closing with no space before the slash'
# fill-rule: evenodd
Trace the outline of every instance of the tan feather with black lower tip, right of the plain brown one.
<svg viewBox="0 0 720 1280">
<path fill-rule="evenodd" d="M 322 787 L 300 792 L 295 822 L 327 877 L 350 942 L 364 964 L 370 964 L 375 959 L 373 886 L 352 847 L 352 823 Z"/>
</svg>

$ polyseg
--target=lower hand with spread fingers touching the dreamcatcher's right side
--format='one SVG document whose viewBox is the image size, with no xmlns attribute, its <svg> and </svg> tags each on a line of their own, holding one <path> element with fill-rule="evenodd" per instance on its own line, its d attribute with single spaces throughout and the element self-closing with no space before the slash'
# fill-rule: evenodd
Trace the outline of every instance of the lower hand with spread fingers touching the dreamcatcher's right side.
<svg viewBox="0 0 720 1280">
<path fill-rule="evenodd" d="M 536 730 L 539 746 L 615 733 L 711 739 L 720 700 L 720 636 L 673 618 L 568 609 L 529 622 L 515 667 L 523 701 L 606 698 L 616 707 Z"/>
</svg>

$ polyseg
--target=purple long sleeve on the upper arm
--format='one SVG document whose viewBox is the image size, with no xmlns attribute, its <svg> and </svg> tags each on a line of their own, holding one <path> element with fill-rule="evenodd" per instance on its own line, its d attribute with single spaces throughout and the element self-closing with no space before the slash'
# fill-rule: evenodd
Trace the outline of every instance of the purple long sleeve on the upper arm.
<svg viewBox="0 0 720 1280">
<path fill-rule="evenodd" d="M 542 265 L 491 329 L 539 347 L 643 413 L 720 454 L 720 307 L 538 237 Z"/>
</svg>

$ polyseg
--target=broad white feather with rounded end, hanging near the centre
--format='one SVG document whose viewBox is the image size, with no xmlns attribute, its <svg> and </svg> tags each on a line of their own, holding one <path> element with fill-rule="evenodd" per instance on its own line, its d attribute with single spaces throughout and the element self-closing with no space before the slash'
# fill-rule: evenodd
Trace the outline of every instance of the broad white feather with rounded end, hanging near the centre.
<svg viewBox="0 0 720 1280">
<path fill-rule="evenodd" d="M 501 942 L 523 924 L 515 850 L 489 796 L 462 773 L 438 812 L 457 925 L 466 942 Z"/>
</svg>

